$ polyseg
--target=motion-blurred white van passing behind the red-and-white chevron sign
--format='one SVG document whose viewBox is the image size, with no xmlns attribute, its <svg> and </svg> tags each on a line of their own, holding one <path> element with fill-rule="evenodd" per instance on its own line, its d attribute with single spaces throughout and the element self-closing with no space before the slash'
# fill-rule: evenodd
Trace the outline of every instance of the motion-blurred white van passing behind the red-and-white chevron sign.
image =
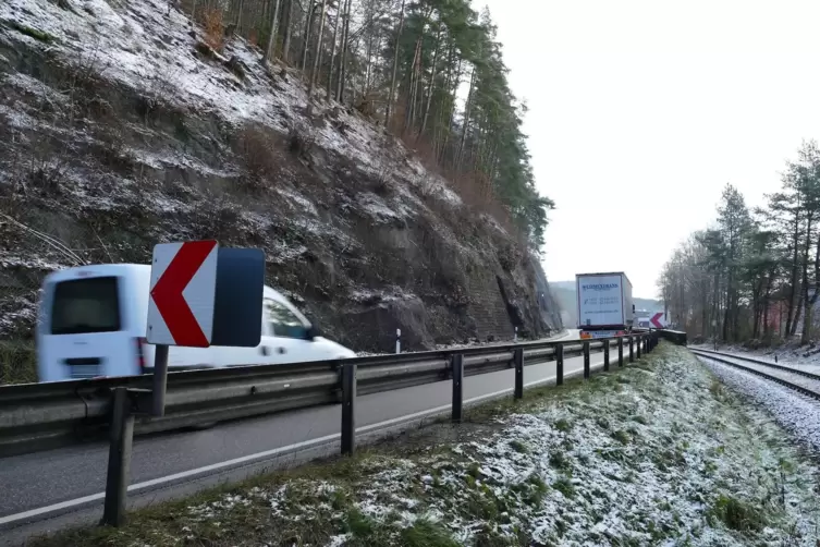
<svg viewBox="0 0 820 547">
<path fill-rule="evenodd" d="M 151 372 L 154 345 L 146 343 L 151 268 L 99 264 L 46 277 L 36 329 L 40 381 Z M 265 287 L 261 342 L 256 348 L 171 347 L 171 370 L 298 363 L 355 357 L 316 336 L 310 321 L 287 299 Z"/>
</svg>

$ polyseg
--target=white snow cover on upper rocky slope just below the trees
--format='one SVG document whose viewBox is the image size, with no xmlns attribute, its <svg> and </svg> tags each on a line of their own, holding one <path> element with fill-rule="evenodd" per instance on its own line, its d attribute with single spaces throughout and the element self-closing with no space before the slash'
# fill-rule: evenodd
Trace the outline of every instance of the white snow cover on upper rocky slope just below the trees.
<svg viewBox="0 0 820 547">
<path fill-rule="evenodd" d="M 48 49 L 51 54 L 60 51 L 66 59 L 84 60 L 109 80 L 152 92 L 156 97 L 192 112 L 219 112 L 235 125 L 254 121 L 282 133 L 306 123 L 303 116 L 307 94 L 296 72 L 258 70 L 261 52 L 243 39 L 229 40 L 216 61 L 208 62 L 197 51 L 198 29 L 192 28 L 179 8 L 169 11 L 166 0 L 131 0 L 121 4 L 72 0 L 71 4 L 72 10 L 63 10 L 48 0 L 4 0 L 0 2 L 0 21 L 14 22 L 17 27 L 50 37 L 44 44 L 25 34 L 15 36 L 30 48 Z M 245 77 L 219 62 L 232 58 L 246 68 Z M 32 93 L 47 93 L 34 78 L 12 77 Z M 461 203 L 443 178 L 426 170 L 401 143 L 362 117 L 332 104 L 316 105 L 313 110 L 314 116 L 330 113 L 334 119 L 332 124 L 325 123 L 315 131 L 320 147 L 376 175 L 390 173 L 406 181 L 429 181 L 440 189 L 443 198 Z M 400 153 L 387 160 L 385 149 Z"/>
</svg>

